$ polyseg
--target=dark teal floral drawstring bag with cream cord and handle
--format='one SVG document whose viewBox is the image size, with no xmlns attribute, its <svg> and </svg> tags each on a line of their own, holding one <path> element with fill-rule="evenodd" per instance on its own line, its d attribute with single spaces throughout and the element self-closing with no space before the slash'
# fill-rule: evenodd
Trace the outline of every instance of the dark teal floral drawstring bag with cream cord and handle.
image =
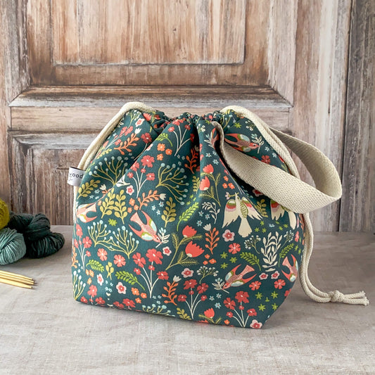
<svg viewBox="0 0 375 375">
<path fill-rule="evenodd" d="M 286 148 L 309 170 L 300 180 Z M 208 115 L 123 106 L 84 153 L 75 187 L 74 298 L 82 303 L 259 329 L 307 275 L 309 214 L 341 197 L 314 146 L 245 108 Z"/>
</svg>

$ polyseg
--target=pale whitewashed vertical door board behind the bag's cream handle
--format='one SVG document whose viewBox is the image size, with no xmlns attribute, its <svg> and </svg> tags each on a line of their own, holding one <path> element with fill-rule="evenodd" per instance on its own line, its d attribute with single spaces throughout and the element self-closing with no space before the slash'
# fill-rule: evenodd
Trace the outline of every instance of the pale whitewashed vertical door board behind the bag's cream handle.
<svg viewBox="0 0 375 375">
<path fill-rule="evenodd" d="M 323 151 L 341 173 L 350 0 L 300 1 L 295 63 L 295 136 Z M 301 177 L 313 183 L 296 160 Z M 315 230 L 338 230 L 339 202 L 312 212 Z"/>
</svg>

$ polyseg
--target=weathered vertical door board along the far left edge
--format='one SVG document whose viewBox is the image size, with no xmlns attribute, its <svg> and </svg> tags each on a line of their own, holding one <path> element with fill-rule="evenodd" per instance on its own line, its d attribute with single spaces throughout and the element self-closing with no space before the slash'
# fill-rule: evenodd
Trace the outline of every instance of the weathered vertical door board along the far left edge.
<svg viewBox="0 0 375 375">
<path fill-rule="evenodd" d="M 0 1 L 0 197 L 9 202 L 11 185 L 8 167 L 7 127 L 11 125 L 8 108 L 28 84 L 25 1 Z"/>
</svg>

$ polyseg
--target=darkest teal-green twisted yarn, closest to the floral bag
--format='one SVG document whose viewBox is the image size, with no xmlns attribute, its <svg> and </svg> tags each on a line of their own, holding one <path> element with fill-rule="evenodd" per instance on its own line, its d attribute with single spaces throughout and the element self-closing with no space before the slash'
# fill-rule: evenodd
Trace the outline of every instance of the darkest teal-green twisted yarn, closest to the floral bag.
<svg viewBox="0 0 375 375">
<path fill-rule="evenodd" d="M 60 233 L 51 231 L 51 224 L 44 214 L 15 214 L 11 212 L 8 228 L 23 234 L 26 244 L 26 256 L 43 258 L 60 250 L 65 239 Z"/>
</svg>

